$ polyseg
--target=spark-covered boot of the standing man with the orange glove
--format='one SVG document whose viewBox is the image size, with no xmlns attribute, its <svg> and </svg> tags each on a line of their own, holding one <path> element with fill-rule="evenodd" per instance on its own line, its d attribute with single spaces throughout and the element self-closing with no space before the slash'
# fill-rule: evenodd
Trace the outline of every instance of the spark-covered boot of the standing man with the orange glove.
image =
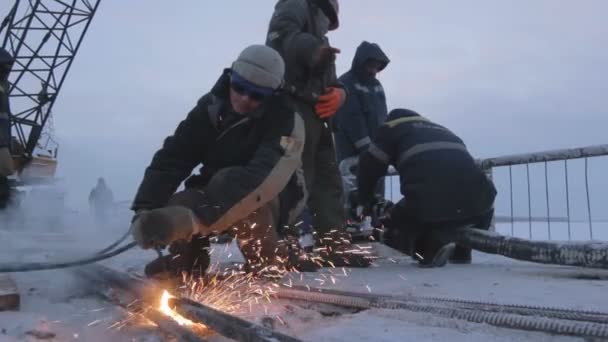
<svg viewBox="0 0 608 342">
<path fill-rule="evenodd" d="M 350 234 L 332 231 L 318 234 L 316 249 L 323 267 L 368 267 L 372 258 L 369 252 L 351 243 Z"/>
</svg>

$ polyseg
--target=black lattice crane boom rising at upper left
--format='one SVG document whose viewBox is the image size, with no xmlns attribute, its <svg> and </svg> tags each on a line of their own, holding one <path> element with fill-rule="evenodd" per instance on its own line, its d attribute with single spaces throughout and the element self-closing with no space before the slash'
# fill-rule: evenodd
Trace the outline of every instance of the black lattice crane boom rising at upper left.
<svg viewBox="0 0 608 342">
<path fill-rule="evenodd" d="M 11 127 L 18 143 L 17 147 L 13 144 L 13 155 L 20 173 L 24 166 L 38 162 L 39 169 L 51 166 L 54 174 L 57 149 L 49 149 L 41 140 L 99 2 L 16 0 L 0 24 L 0 44 L 15 58 L 8 94 Z M 53 141 L 52 135 L 47 138 Z M 36 155 L 37 147 L 45 153 Z"/>
</svg>

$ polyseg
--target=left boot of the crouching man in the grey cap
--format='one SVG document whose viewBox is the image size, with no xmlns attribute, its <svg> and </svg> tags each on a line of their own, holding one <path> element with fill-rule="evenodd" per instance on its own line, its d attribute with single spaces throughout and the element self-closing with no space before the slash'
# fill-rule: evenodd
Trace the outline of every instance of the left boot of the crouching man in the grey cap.
<svg viewBox="0 0 608 342">
<path fill-rule="evenodd" d="M 144 269 L 148 278 L 157 280 L 202 277 L 205 275 L 211 257 L 209 239 L 200 235 L 191 241 L 178 241 L 169 247 L 169 254 L 152 260 Z"/>
</svg>

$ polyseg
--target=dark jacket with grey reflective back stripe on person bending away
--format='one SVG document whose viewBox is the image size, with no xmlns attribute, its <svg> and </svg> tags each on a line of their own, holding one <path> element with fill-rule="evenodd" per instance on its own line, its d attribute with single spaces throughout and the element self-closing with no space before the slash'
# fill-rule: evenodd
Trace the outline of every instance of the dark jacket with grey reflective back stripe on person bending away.
<svg viewBox="0 0 608 342">
<path fill-rule="evenodd" d="M 399 172 L 408 214 L 421 222 L 466 220 L 492 208 L 496 189 L 462 140 L 404 109 L 393 110 L 359 158 L 360 201 L 371 200 L 389 165 Z"/>
</svg>

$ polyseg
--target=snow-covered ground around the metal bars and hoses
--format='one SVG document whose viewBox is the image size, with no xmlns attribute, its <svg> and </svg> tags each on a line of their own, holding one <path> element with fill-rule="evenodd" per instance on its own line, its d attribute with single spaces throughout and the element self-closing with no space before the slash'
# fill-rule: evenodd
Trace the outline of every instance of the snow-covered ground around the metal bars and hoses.
<svg viewBox="0 0 608 342">
<path fill-rule="evenodd" d="M 118 212 L 103 227 L 95 225 L 87 215 L 78 213 L 64 218 L 65 229 L 49 231 L 44 224 L 18 230 L 3 227 L 0 229 L 0 262 L 54 260 L 90 254 L 124 233 L 128 215 L 128 212 Z M 584 224 L 573 224 L 572 227 L 580 234 L 588 232 Z M 520 235 L 526 236 L 527 224 L 516 228 L 521 229 Z M 506 224 L 497 230 L 510 232 L 510 229 L 510 224 Z M 541 223 L 535 223 L 533 229 L 538 234 L 546 231 Z M 600 230 L 608 229 L 594 227 L 594 231 Z M 420 269 L 408 257 L 386 247 L 377 246 L 377 251 L 384 258 L 378 260 L 374 267 L 348 270 L 348 276 L 344 276 L 342 270 L 324 269 L 317 274 L 304 274 L 301 279 L 293 277 L 292 281 L 395 295 L 415 294 L 589 310 L 606 310 L 608 307 L 608 271 L 537 265 L 481 253 L 474 255 L 472 265 Z M 121 270 L 141 272 L 145 263 L 154 257 L 153 252 L 133 250 L 104 263 Z M 220 246 L 215 249 L 213 258 L 215 261 L 238 261 L 240 255 L 234 245 L 228 248 Z M 327 280 L 330 275 L 336 279 L 335 284 Z M 160 339 L 153 329 L 142 325 L 130 325 L 121 330 L 113 328 L 112 325 L 124 320 L 127 314 L 89 297 L 87 288 L 69 271 L 18 273 L 12 277 L 21 292 L 21 310 L 0 312 L 0 341 L 37 340 L 27 335 L 32 330 L 52 332 L 55 341 Z M 258 321 L 263 317 L 275 318 L 278 329 L 308 341 L 577 340 L 407 311 L 368 310 L 323 315 L 312 308 L 282 301 L 260 305 L 263 307 L 253 311 L 259 314 L 248 318 Z"/>
</svg>

